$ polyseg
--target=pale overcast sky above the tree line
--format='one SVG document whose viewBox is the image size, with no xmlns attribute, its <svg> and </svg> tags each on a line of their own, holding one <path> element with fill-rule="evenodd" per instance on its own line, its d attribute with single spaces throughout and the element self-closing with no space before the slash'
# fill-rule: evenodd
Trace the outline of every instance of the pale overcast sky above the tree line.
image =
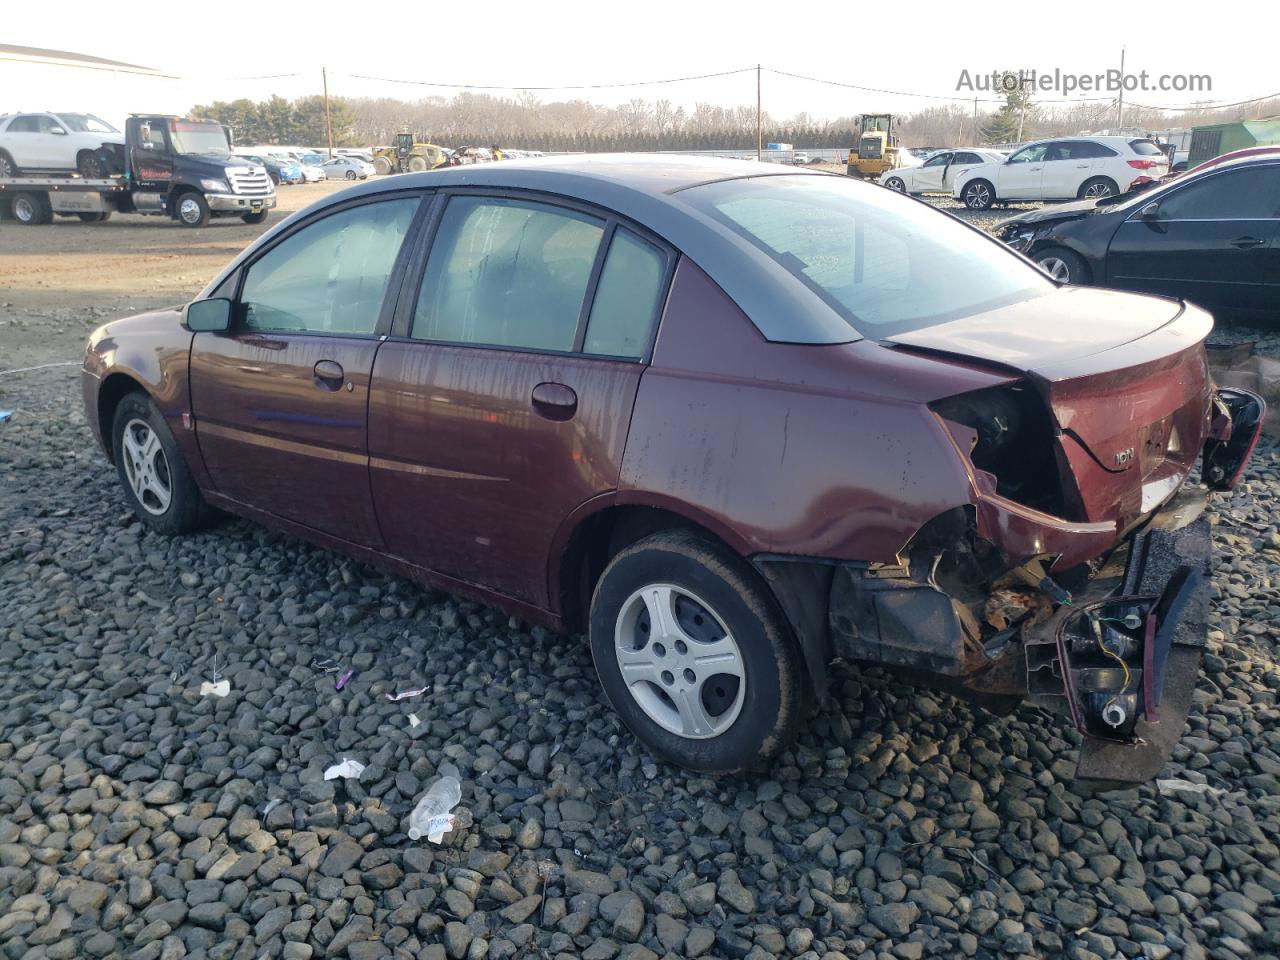
<svg viewBox="0 0 1280 960">
<path fill-rule="evenodd" d="M 188 104 L 317 93 L 321 65 L 329 68 L 330 93 L 346 96 L 416 99 L 457 92 L 352 74 L 554 86 L 681 77 L 756 63 L 868 87 L 964 96 L 956 92 L 961 70 L 978 74 L 1007 67 L 1096 73 L 1119 65 L 1121 45 L 1128 47 L 1129 72 L 1212 77 L 1208 95 L 1126 95 L 1138 102 L 1234 101 L 1280 90 L 1275 70 L 1280 13 L 1271 3 L 1240 0 L 1198 5 L 1194 15 L 1175 13 L 1169 4 L 1152 5 L 1146 17 L 1137 13 L 1139 8 L 1098 0 L 902 0 L 874 5 L 302 0 L 248 6 L 165 4 L 156 9 L 154 20 L 110 14 L 96 1 L 60 4 L 56 18 L 40 4 L 9 6 L 14 9 L 5 12 L 4 42 L 72 50 L 177 74 L 180 79 L 173 81 L 168 92 Z M 76 13 L 78 6 L 82 14 Z M 239 79 L 291 73 L 301 76 Z M 77 109 L 77 97 L 91 90 L 84 84 L 83 77 L 65 76 L 50 77 L 38 90 L 27 84 L 14 90 L 10 83 L 0 87 L 0 113 Z M 819 119 L 859 111 L 909 113 L 946 102 L 842 90 L 769 73 L 763 86 L 764 108 L 783 119 L 800 111 Z M 545 91 L 539 96 L 604 104 L 668 96 L 686 106 L 698 101 L 732 106 L 754 102 L 755 74 L 618 90 Z M 182 108 L 166 104 L 163 109 Z"/>
</svg>

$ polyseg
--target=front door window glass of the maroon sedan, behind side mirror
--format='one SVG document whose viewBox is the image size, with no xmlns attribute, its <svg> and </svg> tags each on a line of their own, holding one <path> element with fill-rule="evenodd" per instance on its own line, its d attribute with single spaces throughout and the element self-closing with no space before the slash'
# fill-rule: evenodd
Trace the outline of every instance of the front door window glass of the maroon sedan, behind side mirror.
<svg viewBox="0 0 1280 960">
<path fill-rule="evenodd" d="M 417 198 L 365 204 L 282 241 L 248 268 L 244 328 L 371 335 Z"/>
</svg>

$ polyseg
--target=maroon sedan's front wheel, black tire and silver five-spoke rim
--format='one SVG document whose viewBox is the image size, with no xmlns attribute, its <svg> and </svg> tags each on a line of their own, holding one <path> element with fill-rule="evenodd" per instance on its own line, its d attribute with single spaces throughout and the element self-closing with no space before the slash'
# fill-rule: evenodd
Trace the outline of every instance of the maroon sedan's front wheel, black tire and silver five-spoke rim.
<svg viewBox="0 0 1280 960">
<path fill-rule="evenodd" d="M 178 442 L 146 394 L 131 393 L 115 408 L 111 452 L 129 506 L 156 532 L 191 532 L 212 516 Z"/>
</svg>

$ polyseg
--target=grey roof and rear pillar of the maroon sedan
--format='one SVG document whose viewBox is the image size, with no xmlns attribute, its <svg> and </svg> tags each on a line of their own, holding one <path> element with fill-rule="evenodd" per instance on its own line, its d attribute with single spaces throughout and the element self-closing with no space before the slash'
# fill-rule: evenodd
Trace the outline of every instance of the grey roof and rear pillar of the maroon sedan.
<svg viewBox="0 0 1280 960">
<path fill-rule="evenodd" d="M 298 216 L 311 216 L 334 204 L 381 193 L 443 187 L 547 193 L 613 211 L 662 237 L 719 284 L 771 339 L 792 343 L 847 343 L 859 339 L 838 314 L 777 261 L 678 197 L 680 191 L 700 184 L 763 177 L 838 177 L 847 182 L 840 174 L 796 166 L 669 154 L 580 154 L 503 160 L 366 180 L 294 214 L 265 233 L 259 243 L 288 229 Z M 881 189 L 874 184 L 859 184 L 858 188 Z M 257 246 L 253 244 L 246 255 Z M 220 279 L 207 289 L 214 289 Z M 787 335 L 771 337 L 771 325 L 776 329 L 782 323 Z"/>
</svg>

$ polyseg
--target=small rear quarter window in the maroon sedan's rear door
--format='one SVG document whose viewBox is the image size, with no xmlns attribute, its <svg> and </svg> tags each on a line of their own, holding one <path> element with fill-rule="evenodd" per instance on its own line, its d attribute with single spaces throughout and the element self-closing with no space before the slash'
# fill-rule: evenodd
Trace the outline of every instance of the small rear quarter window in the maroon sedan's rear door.
<svg viewBox="0 0 1280 960">
<path fill-rule="evenodd" d="M 667 257 L 631 230 L 618 228 L 604 257 L 582 349 L 639 360 L 649 347 L 666 292 Z"/>
</svg>

